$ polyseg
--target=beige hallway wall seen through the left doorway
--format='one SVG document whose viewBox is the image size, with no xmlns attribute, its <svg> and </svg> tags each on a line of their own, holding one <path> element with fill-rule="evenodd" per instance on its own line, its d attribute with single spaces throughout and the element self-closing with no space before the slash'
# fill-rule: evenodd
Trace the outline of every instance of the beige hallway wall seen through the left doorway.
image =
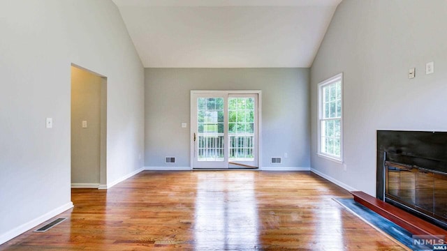
<svg viewBox="0 0 447 251">
<path fill-rule="evenodd" d="M 101 165 L 101 83 L 103 79 L 71 68 L 71 183 L 97 184 Z M 87 121 L 87 128 L 82 128 Z"/>
</svg>

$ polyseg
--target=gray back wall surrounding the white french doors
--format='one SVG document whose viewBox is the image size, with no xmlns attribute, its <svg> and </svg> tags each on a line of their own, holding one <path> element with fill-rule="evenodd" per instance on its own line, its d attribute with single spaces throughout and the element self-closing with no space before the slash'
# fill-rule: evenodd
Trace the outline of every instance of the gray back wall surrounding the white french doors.
<svg viewBox="0 0 447 251">
<path fill-rule="evenodd" d="M 307 68 L 146 68 L 145 166 L 190 166 L 191 90 L 261 90 L 262 167 L 310 167 L 308 83 Z"/>
</svg>

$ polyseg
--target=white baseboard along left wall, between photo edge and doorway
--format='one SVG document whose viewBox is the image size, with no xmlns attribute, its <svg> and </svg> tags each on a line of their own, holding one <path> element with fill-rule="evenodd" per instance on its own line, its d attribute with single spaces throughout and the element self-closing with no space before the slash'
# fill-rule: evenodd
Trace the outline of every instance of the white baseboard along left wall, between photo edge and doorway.
<svg viewBox="0 0 447 251">
<path fill-rule="evenodd" d="M 70 208 L 73 208 L 73 202 L 71 202 L 71 201 L 63 206 L 54 208 L 52 211 L 45 213 L 44 215 L 41 215 L 38 218 L 35 218 L 34 220 L 30 220 L 29 222 L 24 223 L 24 224 L 20 225 L 19 227 L 16 227 L 15 229 L 7 231 L 5 234 L 1 234 L 0 235 L 0 245 L 3 243 L 6 243 L 6 241 L 10 241 L 11 239 L 15 238 L 16 236 L 20 236 L 20 234 L 23 234 L 24 232 L 42 224 L 43 222 L 50 220 L 54 216 L 59 215 L 60 213 L 64 213 L 64 211 L 67 211 Z"/>
</svg>

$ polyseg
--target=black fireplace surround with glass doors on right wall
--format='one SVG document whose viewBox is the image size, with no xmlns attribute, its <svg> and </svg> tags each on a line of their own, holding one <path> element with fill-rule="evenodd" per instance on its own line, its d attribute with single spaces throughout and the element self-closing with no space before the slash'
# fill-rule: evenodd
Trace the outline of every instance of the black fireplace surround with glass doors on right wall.
<svg viewBox="0 0 447 251">
<path fill-rule="evenodd" d="M 376 195 L 447 229 L 447 132 L 378 130 Z"/>
</svg>

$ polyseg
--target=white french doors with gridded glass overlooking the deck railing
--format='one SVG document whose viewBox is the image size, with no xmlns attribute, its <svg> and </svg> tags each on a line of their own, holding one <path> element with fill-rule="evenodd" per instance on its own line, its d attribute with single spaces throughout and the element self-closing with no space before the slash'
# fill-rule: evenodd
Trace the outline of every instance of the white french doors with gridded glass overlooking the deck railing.
<svg viewBox="0 0 447 251">
<path fill-rule="evenodd" d="M 258 167 L 260 91 L 191 91 L 191 167 Z"/>
</svg>

